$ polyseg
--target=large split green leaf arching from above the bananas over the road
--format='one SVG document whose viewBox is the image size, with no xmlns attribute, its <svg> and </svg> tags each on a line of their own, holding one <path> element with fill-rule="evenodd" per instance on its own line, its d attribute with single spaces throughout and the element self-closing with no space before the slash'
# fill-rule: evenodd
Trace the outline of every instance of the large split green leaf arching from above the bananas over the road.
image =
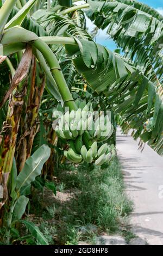
<svg viewBox="0 0 163 256">
<path fill-rule="evenodd" d="M 108 97 L 108 103 L 115 113 L 120 114 L 124 123 L 135 130 L 135 139 L 146 132 L 145 124 L 153 118 L 150 145 L 162 155 L 162 97 L 155 83 L 149 81 L 134 65 L 127 63 L 120 54 L 112 53 L 93 41 L 75 40 L 78 48 L 72 45 L 65 47 L 69 56 L 73 57 L 78 72 L 97 94 L 103 93 Z"/>
</svg>

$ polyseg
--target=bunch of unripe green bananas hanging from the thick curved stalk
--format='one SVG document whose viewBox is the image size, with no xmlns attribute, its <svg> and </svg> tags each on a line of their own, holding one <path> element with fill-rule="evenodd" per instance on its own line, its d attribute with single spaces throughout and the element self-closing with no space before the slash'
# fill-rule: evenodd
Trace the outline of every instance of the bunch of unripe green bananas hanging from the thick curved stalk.
<svg viewBox="0 0 163 256">
<path fill-rule="evenodd" d="M 64 113 L 61 106 L 55 109 L 54 116 L 58 117 L 55 120 L 55 132 L 69 145 L 64 155 L 73 163 L 95 162 L 97 166 L 101 166 L 111 161 L 116 155 L 114 145 L 105 143 L 98 148 L 98 143 L 110 138 L 114 127 L 108 115 L 93 112 L 91 102 L 86 104 L 85 101 L 78 101 L 76 103 L 77 111 Z"/>
</svg>

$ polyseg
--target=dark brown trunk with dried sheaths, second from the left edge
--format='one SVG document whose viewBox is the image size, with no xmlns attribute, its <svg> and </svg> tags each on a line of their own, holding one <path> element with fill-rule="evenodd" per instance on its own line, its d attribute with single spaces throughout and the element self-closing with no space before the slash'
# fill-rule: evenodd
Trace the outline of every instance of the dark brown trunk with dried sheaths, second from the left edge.
<svg viewBox="0 0 163 256">
<path fill-rule="evenodd" d="M 45 88 L 45 77 L 42 78 L 40 86 L 36 82 L 36 59 L 33 56 L 32 75 L 30 83 L 30 92 L 24 115 L 21 118 L 21 134 L 17 145 L 16 162 L 17 170 L 21 172 L 28 157 L 31 155 L 33 141 L 39 124 L 38 115 L 41 104 L 43 90 Z M 23 152 L 23 154 L 22 154 Z"/>
</svg>

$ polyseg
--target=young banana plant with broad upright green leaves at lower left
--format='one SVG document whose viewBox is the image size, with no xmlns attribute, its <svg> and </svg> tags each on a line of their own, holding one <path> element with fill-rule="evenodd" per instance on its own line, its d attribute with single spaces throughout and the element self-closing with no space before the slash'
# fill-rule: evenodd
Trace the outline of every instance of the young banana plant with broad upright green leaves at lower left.
<svg viewBox="0 0 163 256">
<path fill-rule="evenodd" d="M 17 175 L 16 163 L 14 161 L 11 170 L 11 192 L 10 192 L 10 209 L 7 218 L 6 232 L 4 239 L 9 245 L 10 243 L 10 232 L 12 228 L 15 228 L 16 222 L 20 221 L 24 212 L 26 211 L 27 204 L 29 203 L 28 194 L 30 194 L 30 187 L 32 182 L 35 180 L 36 176 L 41 174 L 43 164 L 48 160 L 51 154 L 51 150 L 47 145 L 42 145 L 35 153 L 30 156 L 22 169 L 21 173 Z M 3 188 L 4 189 L 4 188 Z M 5 193 L 5 191 L 4 191 Z M 5 204 L 7 198 L 3 199 L 0 207 Z M 48 245 L 45 237 L 43 237 L 39 228 L 35 227 L 32 223 L 27 221 L 21 221 L 29 229 L 37 242 L 41 245 Z"/>
</svg>

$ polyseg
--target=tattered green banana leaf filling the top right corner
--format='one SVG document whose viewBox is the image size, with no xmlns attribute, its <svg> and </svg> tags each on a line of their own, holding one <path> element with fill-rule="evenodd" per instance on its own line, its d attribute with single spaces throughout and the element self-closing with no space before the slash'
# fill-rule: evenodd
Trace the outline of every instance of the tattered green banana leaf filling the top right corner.
<svg viewBox="0 0 163 256">
<path fill-rule="evenodd" d="M 163 16 L 148 5 L 131 0 L 88 1 L 87 16 L 106 29 L 125 56 L 156 84 L 163 83 Z"/>
</svg>

